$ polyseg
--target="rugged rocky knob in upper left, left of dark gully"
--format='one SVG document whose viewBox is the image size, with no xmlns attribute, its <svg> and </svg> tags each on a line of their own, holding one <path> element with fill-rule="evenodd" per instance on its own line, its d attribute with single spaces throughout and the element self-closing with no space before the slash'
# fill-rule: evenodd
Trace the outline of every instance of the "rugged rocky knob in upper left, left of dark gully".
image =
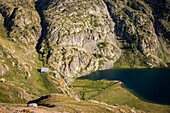
<svg viewBox="0 0 170 113">
<path fill-rule="evenodd" d="M 41 26 L 34 5 L 33 0 L 0 0 L 0 13 L 11 40 L 27 45 L 37 43 Z"/>
</svg>

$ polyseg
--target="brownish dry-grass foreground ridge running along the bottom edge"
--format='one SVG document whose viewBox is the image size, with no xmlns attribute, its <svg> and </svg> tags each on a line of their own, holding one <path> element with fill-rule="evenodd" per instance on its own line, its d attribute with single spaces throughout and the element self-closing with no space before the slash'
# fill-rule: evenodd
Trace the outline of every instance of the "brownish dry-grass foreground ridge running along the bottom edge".
<svg viewBox="0 0 170 113">
<path fill-rule="evenodd" d="M 76 101 L 74 98 L 70 98 L 63 95 L 52 94 L 39 99 L 37 102 L 39 107 L 26 107 L 26 105 L 2 105 L 0 110 L 4 113 L 144 113 L 140 110 L 130 108 L 127 106 L 111 106 L 105 103 L 97 101 Z M 48 106 L 48 107 L 46 107 Z"/>
</svg>

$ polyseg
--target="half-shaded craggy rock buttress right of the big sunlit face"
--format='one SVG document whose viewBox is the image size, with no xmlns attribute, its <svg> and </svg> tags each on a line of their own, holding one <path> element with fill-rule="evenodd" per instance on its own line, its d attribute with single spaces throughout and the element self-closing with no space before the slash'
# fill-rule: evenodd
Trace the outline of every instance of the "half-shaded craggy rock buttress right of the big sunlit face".
<svg viewBox="0 0 170 113">
<path fill-rule="evenodd" d="M 155 33 L 152 9 L 140 0 L 105 0 L 115 25 L 115 33 L 122 49 L 146 56 L 149 67 L 163 64 L 161 45 Z M 132 53 L 132 54 L 133 54 Z M 163 64 L 164 65 L 164 64 Z"/>
</svg>

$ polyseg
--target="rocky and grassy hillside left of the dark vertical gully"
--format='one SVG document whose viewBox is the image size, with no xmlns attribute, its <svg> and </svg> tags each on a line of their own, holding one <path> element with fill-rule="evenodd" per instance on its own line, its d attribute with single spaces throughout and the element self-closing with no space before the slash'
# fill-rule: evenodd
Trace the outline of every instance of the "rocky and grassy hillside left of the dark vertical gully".
<svg viewBox="0 0 170 113">
<path fill-rule="evenodd" d="M 40 34 L 33 0 L 0 0 L 0 78 L 6 80 L 0 82 L 0 102 L 23 103 L 58 91 L 37 71 L 42 67 L 35 47 Z"/>
</svg>

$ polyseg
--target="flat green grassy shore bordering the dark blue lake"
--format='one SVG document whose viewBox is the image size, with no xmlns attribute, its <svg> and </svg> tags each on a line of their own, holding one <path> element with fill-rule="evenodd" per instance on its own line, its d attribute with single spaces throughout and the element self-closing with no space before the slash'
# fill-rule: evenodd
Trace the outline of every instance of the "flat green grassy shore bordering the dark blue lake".
<svg viewBox="0 0 170 113">
<path fill-rule="evenodd" d="M 76 80 L 74 91 L 84 100 L 97 100 L 110 105 L 128 105 L 150 113 L 169 113 L 170 106 L 145 102 L 114 81 Z"/>
</svg>

